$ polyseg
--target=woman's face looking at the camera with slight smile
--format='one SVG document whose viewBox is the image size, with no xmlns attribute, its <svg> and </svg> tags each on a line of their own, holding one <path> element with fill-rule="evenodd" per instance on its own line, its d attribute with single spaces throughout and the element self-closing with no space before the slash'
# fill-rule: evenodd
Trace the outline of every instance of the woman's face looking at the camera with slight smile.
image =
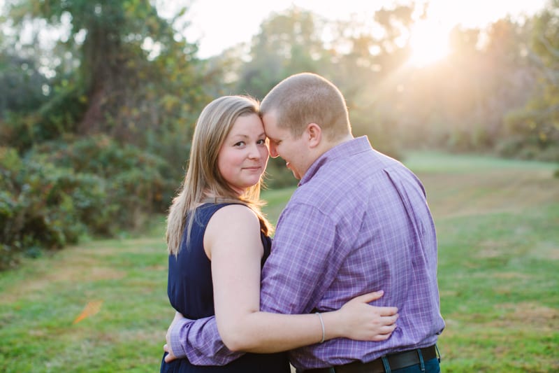
<svg viewBox="0 0 559 373">
<path fill-rule="evenodd" d="M 217 155 L 219 172 L 239 195 L 260 181 L 268 163 L 266 134 L 259 115 L 235 120 Z"/>
</svg>

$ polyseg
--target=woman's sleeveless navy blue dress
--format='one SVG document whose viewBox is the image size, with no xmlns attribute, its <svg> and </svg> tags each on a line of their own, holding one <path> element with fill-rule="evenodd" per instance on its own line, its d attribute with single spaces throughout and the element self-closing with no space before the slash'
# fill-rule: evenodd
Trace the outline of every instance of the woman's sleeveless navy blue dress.
<svg viewBox="0 0 559 373">
<path fill-rule="evenodd" d="M 211 262 L 205 255 L 203 239 L 212 215 L 228 204 L 203 204 L 196 209 L 196 219 L 190 234 L 189 247 L 183 234 L 179 254 L 169 255 L 167 293 L 170 304 L 184 317 L 196 320 L 215 315 Z M 270 255 L 271 240 L 262 235 L 264 255 L 262 265 Z M 165 356 L 165 355 L 164 355 Z M 286 353 L 245 353 L 222 367 L 192 365 L 187 358 L 165 363 L 161 373 L 289 373 Z"/>
</svg>

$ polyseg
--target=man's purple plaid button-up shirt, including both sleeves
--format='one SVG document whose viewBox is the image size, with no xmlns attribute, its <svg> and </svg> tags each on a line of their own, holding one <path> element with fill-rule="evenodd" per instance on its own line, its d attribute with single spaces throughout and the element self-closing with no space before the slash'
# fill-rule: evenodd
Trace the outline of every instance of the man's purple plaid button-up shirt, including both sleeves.
<svg viewBox="0 0 559 373">
<path fill-rule="evenodd" d="M 332 339 L 291 351 L 291 364 L 367 362 L 431 346 L 444 329 L 435 225 L 423 185 L 361 137 L 319 157 L 279 216 L 262 272 L 261 310 L 331 311 L 374 290 L 384 297 L 373 304 L 398 307 L 400 314 L 387 341 Z M 194 364 L 222 365 L 239 356 L 224 347 L 213 318 L 177 323 L 171 339 L 175 355 Z"/>
</svg>

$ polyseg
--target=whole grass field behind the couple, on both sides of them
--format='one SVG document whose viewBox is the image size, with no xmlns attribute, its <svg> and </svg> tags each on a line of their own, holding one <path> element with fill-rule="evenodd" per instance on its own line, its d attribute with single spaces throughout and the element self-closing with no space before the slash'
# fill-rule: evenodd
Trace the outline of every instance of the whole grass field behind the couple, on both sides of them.
<svg viewBox="0 0 559 373">
<path fill-rule="evenodd" d="M 440 242 L 443 372 L 559 371 L 554 164 L 414 153 Z M 272 220 L 291 190 L 270 190 Z M 0 273 L 0 372 L 159 372 L 164 220 Z"/>
</svg>

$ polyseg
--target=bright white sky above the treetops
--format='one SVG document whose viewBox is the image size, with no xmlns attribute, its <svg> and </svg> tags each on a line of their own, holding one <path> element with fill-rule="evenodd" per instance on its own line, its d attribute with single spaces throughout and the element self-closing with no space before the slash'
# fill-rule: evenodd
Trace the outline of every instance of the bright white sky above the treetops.
<svg viewBox="0 0 559 373">
<path fill-rule="evenodd" d="M 418 0 L 423 3 L 426 0 Z M 173 13 L 176 4 L 184 1 L 159 0 L 163 13 Z M 248 42 L 258 34 L 259 26 L 270 13 L 278 13 L 291 6 L 311 10 L 330 20 L 372 17 L 375 10 L 391 6 L 388 0 L 190 0 L 187 17 L 191 26 L 187 40 L 199 41 L 199 56 L 217 55 L 235 44 Z M 406 3 L 400 1 L 400 3 Z M 533 14 L 544 7 L 546 0 L 430 0 L 431 21 L 440 29 L 449 30 L 454 24 L 465 27 L 484 27 L 501 17 Z"/>
</svg>

